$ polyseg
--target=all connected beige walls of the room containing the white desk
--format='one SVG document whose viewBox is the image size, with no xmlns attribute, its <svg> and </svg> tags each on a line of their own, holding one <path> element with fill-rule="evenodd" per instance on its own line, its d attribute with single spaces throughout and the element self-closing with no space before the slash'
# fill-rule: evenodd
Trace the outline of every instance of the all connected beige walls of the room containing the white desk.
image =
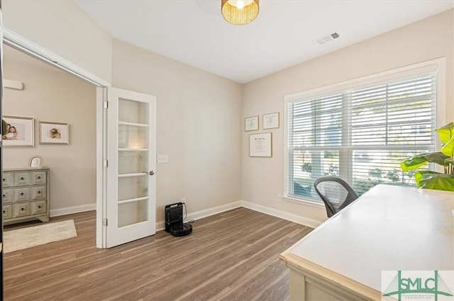
<svg viewBox="0 0 454 301">
<path fill-rule="evenodd" d="M 271 130 L 272 159 L 248 157 L 243 118 L 279 111 L 283 121 L 286 95 L 446 57 L 445 117 L 454 119 L 454 10 L 240 86 L 112 41 L 71 1 L 4 0 L 2 6 L 6 28 L 113 86 L 157 96 L 157 153 L 170 158 L 157 166 L 157 220 L 162 205 L 182 197 L 189 212 L 243 199 L 324 220 L 322 208 L 276 200 L 284 192 L 283 123 Z"/>
</svg>

